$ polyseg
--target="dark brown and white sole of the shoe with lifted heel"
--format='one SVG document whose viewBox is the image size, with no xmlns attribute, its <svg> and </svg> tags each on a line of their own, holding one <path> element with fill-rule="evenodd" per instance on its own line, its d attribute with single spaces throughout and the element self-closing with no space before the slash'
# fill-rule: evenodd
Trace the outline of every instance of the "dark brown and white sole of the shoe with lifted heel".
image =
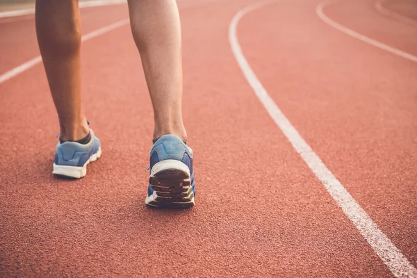
<svg viewBox="0 0 417 278">
<path fill-rule="evenodd" d="M 149 184 L 154 193 L 145 199 L 148 206 L 186 208 L 195 204 L 190 169 L 181 161 L 167 159 L 156 163 Z"/>
</svg>

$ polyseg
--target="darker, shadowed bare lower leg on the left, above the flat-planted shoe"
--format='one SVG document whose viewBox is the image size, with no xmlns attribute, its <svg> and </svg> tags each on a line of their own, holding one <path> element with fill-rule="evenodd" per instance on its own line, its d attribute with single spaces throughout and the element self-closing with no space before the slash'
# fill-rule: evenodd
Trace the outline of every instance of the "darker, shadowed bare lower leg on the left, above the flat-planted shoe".
<svg viewBox="0 0 417 278">
<path fill-rule="evenodd" d="M 36 0 L 36 35 L 60 123 L 61 140 L 88 135 L 81 106 L 81 20 L 78 0 Z"/>
</svg>

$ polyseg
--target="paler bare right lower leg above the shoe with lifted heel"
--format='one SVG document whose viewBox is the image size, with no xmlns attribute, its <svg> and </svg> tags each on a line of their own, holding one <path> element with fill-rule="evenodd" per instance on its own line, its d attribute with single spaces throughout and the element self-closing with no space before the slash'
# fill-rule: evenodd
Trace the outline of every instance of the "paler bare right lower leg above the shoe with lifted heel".
<svg viewBox="0 0 417 278">
<path fill-rule="evenodd" d="M 128 0 L 133 39 L 154 107 L 154 138 L 187 140 L 182 119 L 181 24 L 175 0 Z"/>
</svg>

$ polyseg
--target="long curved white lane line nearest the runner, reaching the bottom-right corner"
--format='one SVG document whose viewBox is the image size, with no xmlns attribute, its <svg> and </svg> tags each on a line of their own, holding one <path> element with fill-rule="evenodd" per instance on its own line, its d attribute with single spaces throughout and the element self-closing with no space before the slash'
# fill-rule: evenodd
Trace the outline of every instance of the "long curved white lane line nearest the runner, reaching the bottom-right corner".
<svg viewBox="0 0 417 278">
<path fill-rule="evenodd" d="M 294 149 L 302 157 L 306 165 L 322 182 L 329 194 L 336 201 L 352 223 L 357 227 L 361 235 L 368 241 L 370 246 L 375 250 L 379 258 L 384 261 L 389 270 L 395 277 L 417 277 L 417 270 L 414 268 L 407 258 L 398 250 L 397 247 L 386 237 L 377 227 L 377 224 L 370 219 L 369 215 L 359 206 L 353 199 L 352 195 L 347 192 L 340 181 L 334 177 L 334 174 L 327 169 L 325 163 L 317 156 L 306 141 L 300 136 L 291 122 L 281 112 L 277 104 L 272 100 L 268 92 L 263 88 L 261 81 L 256 77 L 238 42 L 237 26 L 240 19 L 253 10 L 261 8 L 273 1 L 266 1 L 249 6 L 240 10 L 232 19 L 229 25 L 229 42 L 234 56 L 238 62 L 240 70 L 242 70 L 247 82 L 259 98 L 263 106 L 275 121 L 279 129 L 284 133 L 286 138 L 291 142 Z"/>
</svg>

